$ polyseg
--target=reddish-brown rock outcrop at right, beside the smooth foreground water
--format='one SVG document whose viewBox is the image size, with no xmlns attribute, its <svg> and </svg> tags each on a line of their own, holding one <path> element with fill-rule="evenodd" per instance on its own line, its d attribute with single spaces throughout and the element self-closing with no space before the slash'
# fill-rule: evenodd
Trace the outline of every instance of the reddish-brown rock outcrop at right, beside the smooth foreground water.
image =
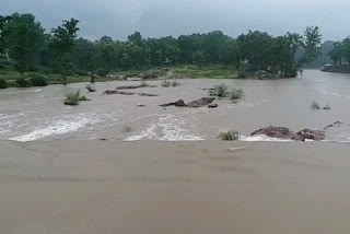
<svg viewBox="0 0 350 234">
<path fill-rule="evenodd" d="M 270 138 L 279 138 L 279 139 L 291 139 L 295 141 L 305 141 L 305 140 L 314 140 L 322 141 L 325 140 L 325 132 L 319 130 L 304 129 L 294 133 L 284 127 L 267 127 L 256 130 L 252 133 L 252 136 L 256 134 L 265 134 Z"/>
</svg>

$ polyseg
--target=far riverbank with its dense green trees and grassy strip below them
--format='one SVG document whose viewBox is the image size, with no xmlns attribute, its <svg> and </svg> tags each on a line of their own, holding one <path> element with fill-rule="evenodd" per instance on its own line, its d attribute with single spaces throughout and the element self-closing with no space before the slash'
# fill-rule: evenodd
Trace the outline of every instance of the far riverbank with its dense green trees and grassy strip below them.
<svg viewBox="0 0 350 234">
<path fill-rule="evenodd" d="M 177 38 L 136 32 L 122 42 L 108 36 L 92 42 L 78 33 L 74 19 L 47 31 L 32 14 L 0 16 L 0 89 L 128 77 L 295 78 L 319 55 L 322 42 L 317 26 L 303 35 L 249 31 L 236 38 L 220 31 Z"/>
</svg>

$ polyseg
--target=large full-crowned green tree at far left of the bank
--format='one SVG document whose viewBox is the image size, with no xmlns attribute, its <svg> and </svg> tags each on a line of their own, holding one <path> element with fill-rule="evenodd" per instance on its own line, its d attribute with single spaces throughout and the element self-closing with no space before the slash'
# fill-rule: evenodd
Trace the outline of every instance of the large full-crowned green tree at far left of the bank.
<svg viewBox="0 0 350 234">
<path fill-rule="evenodd" d="M 3 27 L 4 45 L 15 68 L 24 75 L 25 71 L 34 69 L 38 54 L 44 46 L 44 28 L 32 14 L 11 15 Z"/>
</svg>

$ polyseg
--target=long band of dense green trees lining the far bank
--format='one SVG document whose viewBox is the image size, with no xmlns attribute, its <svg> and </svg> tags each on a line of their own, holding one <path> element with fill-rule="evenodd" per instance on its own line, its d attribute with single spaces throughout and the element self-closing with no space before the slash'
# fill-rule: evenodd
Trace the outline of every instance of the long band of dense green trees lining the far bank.
<svg viewBox="0 0 350 234">
<path fill-rule="evenodd" d="M 23 75 L 38 69 L 60 73 L 63 84 L 73 72 L 89 73 L 93 83 L 96 74 L 178 63 L 233 66 L 241 78 L 257 70 L 294 78 L 319 55 L 322 40 L 317 26 L 303 35 L 249 31 L 236 38 L 220 31 L 177 38 L 143 38 L 136 32 L 125 42 L 108 36 L 92 42 L 78 38 L 78 32 L 74 19 L 47 32 L 32 14 L 0 15 L 0 56 Z"/>
</svg>

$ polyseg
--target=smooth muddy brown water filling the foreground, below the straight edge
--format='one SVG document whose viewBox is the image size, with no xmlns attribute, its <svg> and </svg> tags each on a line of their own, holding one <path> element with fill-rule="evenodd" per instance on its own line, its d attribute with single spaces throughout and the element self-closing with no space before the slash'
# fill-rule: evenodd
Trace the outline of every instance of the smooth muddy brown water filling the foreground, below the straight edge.
<svg viewBox="0 0 350 234">
<path fill-rule="evenodd" d="M 349 144 L 0 141 L 7 234 L 338 233 Z"/>
</svg>

